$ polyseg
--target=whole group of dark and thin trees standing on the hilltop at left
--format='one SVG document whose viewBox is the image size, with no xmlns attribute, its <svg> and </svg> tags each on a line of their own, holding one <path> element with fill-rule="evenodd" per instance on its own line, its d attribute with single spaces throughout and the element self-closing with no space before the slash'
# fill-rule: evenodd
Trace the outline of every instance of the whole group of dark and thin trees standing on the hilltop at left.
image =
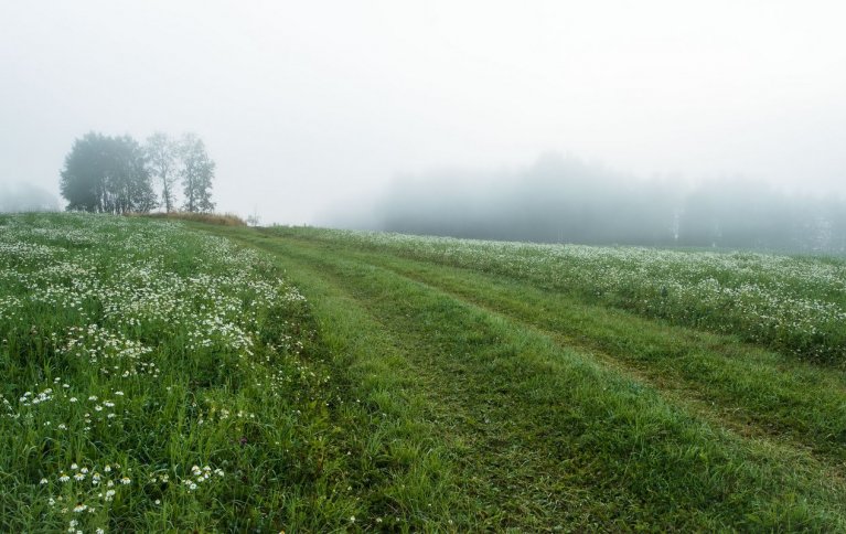
<svg viewBox="0 0 846 534">
<path fill-rule="evenodd" d="M 89 132 L 65 157 L 60 185 L 68 211 L 121 214 L 176 210 L 179 181 L 182 210 L 211 212 L 214 169 L 195 134 L 172 139 L 156 132 L 141 145 L 130 136 Z"/>
</svg>

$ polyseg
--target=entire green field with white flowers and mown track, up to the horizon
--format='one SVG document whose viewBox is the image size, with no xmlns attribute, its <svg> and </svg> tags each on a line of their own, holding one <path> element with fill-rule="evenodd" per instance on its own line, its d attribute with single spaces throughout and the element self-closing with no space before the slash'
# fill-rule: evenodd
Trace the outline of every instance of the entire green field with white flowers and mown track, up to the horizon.
<svg viewBox="0 0 846 534">
<path fill-rule="evenodd" d="M 0 216 L 0 530 L 843 531 L 845 288 L 825 258 Z"/>
</svg>

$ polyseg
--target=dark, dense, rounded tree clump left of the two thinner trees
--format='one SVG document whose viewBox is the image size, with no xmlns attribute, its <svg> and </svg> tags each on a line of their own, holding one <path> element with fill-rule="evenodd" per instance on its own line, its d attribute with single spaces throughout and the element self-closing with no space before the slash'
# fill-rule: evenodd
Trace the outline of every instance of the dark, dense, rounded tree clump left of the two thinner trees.
<svg viewBox="0 0 846 534">
<path fill-rule="evenodd" d="M 157 205 L 144 152 L 129 136 L 89 132 L 76 139 L 61 175 L 67 210 L 118 214 Z"/>
</svg>

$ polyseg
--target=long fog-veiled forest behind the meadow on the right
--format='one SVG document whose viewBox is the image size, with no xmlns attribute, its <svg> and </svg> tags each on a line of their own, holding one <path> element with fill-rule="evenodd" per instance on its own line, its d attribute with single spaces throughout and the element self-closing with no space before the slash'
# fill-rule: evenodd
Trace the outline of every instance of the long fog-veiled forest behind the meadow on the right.
<svg viewBox="0 0 846 534">
<path fill-rule="evenodd" d="M 846 253 L 843 199 L 745 180 L 635 180 L 558 156 L 499 175 L 400 177 L 347 227 L 483 239 Z"/>
</svg>

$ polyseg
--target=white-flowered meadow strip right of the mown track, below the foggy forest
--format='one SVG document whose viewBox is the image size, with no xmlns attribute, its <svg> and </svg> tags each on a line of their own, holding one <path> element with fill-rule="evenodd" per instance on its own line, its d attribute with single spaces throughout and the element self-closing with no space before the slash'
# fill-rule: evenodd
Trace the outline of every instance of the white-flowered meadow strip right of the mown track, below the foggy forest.
<svg viewBox="0 0 846 534">
<path fill-rule="evenodd" d="M 634 311 L 846 365 L 846 260 L 276 228 L 325 242 L 503 275 Z"/>
</svg>

